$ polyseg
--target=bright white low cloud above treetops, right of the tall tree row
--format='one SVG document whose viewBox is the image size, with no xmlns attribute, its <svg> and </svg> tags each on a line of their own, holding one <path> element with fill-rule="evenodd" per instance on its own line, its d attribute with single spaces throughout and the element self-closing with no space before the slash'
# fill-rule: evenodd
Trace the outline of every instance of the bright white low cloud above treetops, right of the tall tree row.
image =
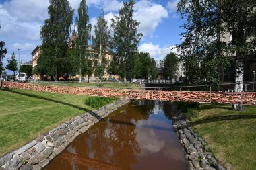
<svg viewBox="0 0 256 170">
<path fill-rule="evenodd" d="M 174 46 L 164 46 L 160 47 L 158 44 L 153 44 L 152 42 L 143 43 L 139 46 L 140 52 L 148 52 L 152 58 L 155 60 L 162 60 L 170 52 L 177 52 L 177 49 L 172 49 Z"/>
</svg>

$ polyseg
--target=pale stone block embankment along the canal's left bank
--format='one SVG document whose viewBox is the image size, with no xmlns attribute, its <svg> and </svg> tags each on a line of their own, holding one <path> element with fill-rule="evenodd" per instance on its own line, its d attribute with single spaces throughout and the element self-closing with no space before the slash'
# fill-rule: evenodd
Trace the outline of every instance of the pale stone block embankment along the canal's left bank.
<svg viewBox="0 0 256 170">
<path fill-rule="evenodd" d="M 38 136 L 22 148 L 1 157 L 0 170 L 42 169 L 79 134 L 86 132 L 90 126 L 129 101 L 128 98 L 119 99 L 99 110 L 66 121 L 57 128 Z"/>
</svg>

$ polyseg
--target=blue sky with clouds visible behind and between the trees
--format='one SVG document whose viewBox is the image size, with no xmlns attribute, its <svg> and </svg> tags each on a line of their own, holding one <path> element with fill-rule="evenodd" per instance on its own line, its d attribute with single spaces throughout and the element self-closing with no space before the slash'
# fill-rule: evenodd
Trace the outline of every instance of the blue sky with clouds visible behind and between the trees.
<svg viewBox="0 0 256 170">
<path fill-rule="evenodd" d="M 180 26 L 184 21 L 176 12 L 179 0 L 135 1 L 133 19 L 140 22 L 138 32 L 143 33 L 139 51 L 150 53 L 155 60 L 162 60 L 170 52 L 171 46 L 181 42 Z M 80 0 L 69 0 L 69 3 L 77 13 Z M 123 7 L 120 0 L 87 0 L 86 4 L 92 25 L 96 24 L 101 9 L 104 9 L 105 19 L 110 26 L 110 19 Z M 13 52 L 18 59 L 18 49 L 22 63 L 32 60 L 32 50 L 42 42 L 40 28 L 49 17 L 48 6 L 49 0 L 0 0 L 0 40 L 5 42 L 8 52 L 3 59 L 4 66 Z"/>
</svg>

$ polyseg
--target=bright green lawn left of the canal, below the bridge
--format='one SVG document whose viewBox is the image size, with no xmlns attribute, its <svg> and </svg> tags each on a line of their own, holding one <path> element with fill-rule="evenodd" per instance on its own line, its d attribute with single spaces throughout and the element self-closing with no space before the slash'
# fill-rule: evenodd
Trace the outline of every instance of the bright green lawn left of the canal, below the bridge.
<svg viewBox="0 0 256 170">
<path fill-rule="evenodd" d="M 38 135 L 94 108 L 86 105 L 93 97 L 42 91 L 0 89 L 0 156 L 33 140 Z M 116 99 L 104 100 L 104 104 Z M 96 105 L 96 108 L 100 105 Z"/>
</svg>

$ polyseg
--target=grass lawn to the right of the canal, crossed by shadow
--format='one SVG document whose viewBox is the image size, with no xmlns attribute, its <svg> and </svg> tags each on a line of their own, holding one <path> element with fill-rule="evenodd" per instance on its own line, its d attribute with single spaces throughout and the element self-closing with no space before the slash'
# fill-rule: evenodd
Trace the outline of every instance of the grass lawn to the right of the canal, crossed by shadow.
<svg viewBox="0 0 256 170">
<path fill-rule="evenodd" d="M 195 132 L 230 169 L 256 169 L 256 107 L 235 112 L 231 105 L 202 104 L 192 118 Z"/>
</svg>

